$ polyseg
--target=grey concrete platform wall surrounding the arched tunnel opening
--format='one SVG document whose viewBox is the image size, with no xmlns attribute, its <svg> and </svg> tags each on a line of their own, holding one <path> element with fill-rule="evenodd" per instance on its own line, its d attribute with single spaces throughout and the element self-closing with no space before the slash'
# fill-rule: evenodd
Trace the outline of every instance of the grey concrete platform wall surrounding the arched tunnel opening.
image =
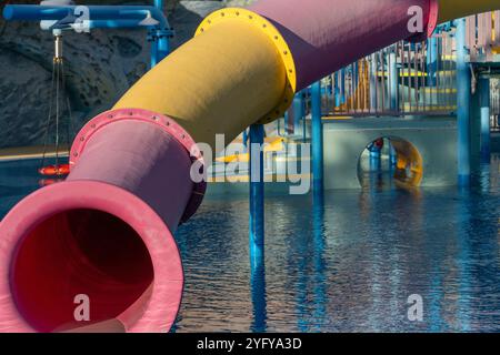
<svg viewBox="0 0 500 355">
<path fill-rule="evenodd" d="M 324 121 L 326 189 L 359 189 L 358 163 L 379 138 L 411 143 L 422 159 L 422 186 L 457 183 L 457 124 L 450 116 Z"/>
</svg>

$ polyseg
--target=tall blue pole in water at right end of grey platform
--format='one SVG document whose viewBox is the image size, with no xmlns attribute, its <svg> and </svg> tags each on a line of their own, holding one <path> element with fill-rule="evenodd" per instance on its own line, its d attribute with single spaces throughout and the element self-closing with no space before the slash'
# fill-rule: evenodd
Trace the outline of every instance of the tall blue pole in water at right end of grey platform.
<svg viewBox="0 0 500 355">
<path fill-rule="evenodd" d="M 467 62 L 466 19 L 457 20 L 457 90 L 458 90 L 458 183 L 470 184 L 470 105 L 471 73 Z"/>
</svg>

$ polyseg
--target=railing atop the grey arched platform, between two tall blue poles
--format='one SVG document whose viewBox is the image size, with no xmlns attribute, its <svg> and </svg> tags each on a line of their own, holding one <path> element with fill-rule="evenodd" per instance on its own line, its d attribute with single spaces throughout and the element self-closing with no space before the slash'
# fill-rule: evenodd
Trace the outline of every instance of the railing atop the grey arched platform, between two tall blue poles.
<svg viewBox="0 0 500 355">
<path fill-rule="evenodd" d="M 327 115 L 449 115 L 457 109 L 454 40 L 398 42 L 322 80 Z"/>
</svg>

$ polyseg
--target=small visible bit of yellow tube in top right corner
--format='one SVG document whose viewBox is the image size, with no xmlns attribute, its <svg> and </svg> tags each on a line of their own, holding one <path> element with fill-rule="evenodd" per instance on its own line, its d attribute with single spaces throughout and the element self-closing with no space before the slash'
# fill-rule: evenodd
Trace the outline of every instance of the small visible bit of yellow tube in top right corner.
<svg viewBox="0 0 500 355">
<path fill-rule="evenodd" d="M 439 22 L 499 9 L 499 0 L 439 0 Z"/>
</svg>

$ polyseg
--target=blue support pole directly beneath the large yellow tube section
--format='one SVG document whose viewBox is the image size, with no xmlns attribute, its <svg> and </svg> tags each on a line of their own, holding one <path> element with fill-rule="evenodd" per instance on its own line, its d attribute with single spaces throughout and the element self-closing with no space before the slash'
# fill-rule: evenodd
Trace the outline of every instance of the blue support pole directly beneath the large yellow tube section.
<svg viewBox="0 0 500 355">
<path fill-rule="evenodd" d="M 250 126 L 250 260 L 261 263 L 264 245 L 264 183 L 262 124 Z"/>
</svg>

